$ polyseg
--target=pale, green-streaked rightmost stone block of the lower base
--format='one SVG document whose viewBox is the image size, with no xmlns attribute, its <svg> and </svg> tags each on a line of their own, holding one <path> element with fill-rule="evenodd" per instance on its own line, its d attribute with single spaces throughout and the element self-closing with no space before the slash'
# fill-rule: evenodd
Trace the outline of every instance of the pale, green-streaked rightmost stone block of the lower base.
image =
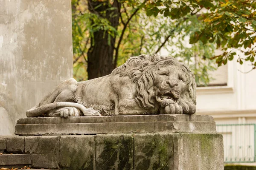
<svg viewBox="0 0 256 170">
<path fill-rule="evenodd" d="M 220 134 L 175 135 L 175 170 L 224 170 Z"/>
</svg>

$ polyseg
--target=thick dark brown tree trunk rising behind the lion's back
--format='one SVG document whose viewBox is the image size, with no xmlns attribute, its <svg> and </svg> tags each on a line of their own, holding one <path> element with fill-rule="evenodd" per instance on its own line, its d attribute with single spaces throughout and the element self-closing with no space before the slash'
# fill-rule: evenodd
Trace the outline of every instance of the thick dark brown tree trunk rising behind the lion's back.
<svg viewBox="0 0 256 170">
<path fill-rule="evenodd" d="M 99 6 L 101 5 L 101 6 Z M 110 21 L 111 26 L 117 29 L 119 23 L 118 10 L 120 3 L 118 0 L 114 0 L 112 7 L 116 7 L 114 10 L 106 10 L 110 8 L 109 1 L 94 1 L 88 0 L 88 7 L 90 12 L 99 15 L 99 17 L 106 18 Z M 97 8 L 95 8 L 97 7 Z M 119 8 L 118 8 L 119 7 Z M 106 14 L 100 14 L 101 11 L 106 11 Z M 114 13 L 114 14 L 111 14 Z M 113 16 L 114 17 L 111 17 Z M 93 33 L 94 37 L 91 38 L 90 49 L 88 50 L 88 79 L 94 79 L 110 74 L 113 71 L 113 53 L 116 36 L 110 38 L 110 44 L 108 44 L 108 31 L 99 30 Z M 94 40 L 93 40 L 94 39 Z M 93 44 L 94 41 L 94 44 Z"/>
</svg>

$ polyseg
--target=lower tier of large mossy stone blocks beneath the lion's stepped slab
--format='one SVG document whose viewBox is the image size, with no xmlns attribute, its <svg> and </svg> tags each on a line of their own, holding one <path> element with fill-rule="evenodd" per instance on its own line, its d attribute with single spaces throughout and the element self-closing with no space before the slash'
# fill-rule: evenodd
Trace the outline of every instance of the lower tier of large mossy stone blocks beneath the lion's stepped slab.
<svg viewBox="0 0 256 170">
<path fill-rule="evenodd" d="M 27 136 L 24 147 L 25 152 L 30 153 L 31 166 L 37 168 L 224 170 L 223 138 L 220 134 Z"/>
</svg>

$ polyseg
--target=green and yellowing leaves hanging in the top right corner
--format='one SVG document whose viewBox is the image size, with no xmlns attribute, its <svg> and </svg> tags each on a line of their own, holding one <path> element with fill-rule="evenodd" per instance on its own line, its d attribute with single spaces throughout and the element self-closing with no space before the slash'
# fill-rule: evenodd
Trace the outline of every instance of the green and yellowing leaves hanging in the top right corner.
<svg viewBox="0 0 256 170">
<path fill-rule="evenodd" d="M 204 9 L 198 20 L 204 25 L 198 31 L 191 34 L 190 43 L 198 41 L 206 44 L 212 42 L 217 48 L 224 52 L 219 56 L 211 57 L 216 59 L 218 66 L 227 64 L 227 60 L 232 60 L 236 52 L 234 48 L 243 52 L 246 58 L 238 58 L 238 62 L 243 64 L 243 60 L 250 61 L 252 69 L 255 69 L 254 61 L 256 49 L 256 2 L 254 0 L 177 0 L 150 1 L 150 8 L 145 6 L 147 14 L 157 16 L 164 14 L 172 19 L 179 19 L 180 16 L 195 14 L 195 11 Z M 161 8 L 159 8 L 161 7 Z"/>
</svg>

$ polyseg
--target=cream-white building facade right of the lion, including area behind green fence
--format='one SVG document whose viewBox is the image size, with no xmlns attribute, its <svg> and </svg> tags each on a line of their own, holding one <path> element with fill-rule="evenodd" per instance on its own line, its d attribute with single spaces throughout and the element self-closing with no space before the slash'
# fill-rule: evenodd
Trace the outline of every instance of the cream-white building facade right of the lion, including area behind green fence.
<svg viewBox="0 0 256 170">
<path fill-rule="evenodd" d="M 197 88 L 197 114 L 212 115 L 224 137 L 226 163 L 253 163 L 256 158 L 256 70 L 236 59 L 218 68 L 220 86 Z M 226 79 L 226 80 L 225 80 Z"/>
</svg>

